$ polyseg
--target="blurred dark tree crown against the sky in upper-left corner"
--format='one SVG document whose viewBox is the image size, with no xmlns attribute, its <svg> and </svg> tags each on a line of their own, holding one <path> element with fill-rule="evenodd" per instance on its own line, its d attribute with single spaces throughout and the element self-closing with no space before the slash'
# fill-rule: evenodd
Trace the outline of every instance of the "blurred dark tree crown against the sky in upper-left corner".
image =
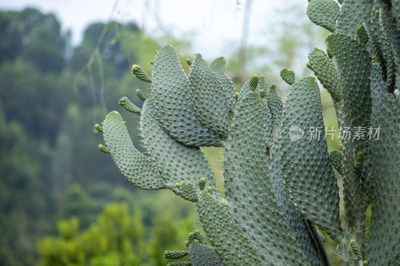
<svg viewBox="0 0 400 266">
<path fill-rule="evenodd" d="M 64 68 L 68 33 L 61 34 L 53 14 L 34 8 L 0 11 L 0 21 L 0 63 L 22 56 L 41 71 L 59 73 Z"/>
</svg>

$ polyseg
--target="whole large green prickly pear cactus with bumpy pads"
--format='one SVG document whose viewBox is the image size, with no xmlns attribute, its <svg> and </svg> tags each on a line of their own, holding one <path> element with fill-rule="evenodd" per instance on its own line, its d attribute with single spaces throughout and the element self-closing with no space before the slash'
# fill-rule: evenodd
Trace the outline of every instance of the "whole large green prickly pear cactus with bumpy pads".
<svg viewBox="0 0 400 266">
<path fill-rule="evenodd" d="M 333 33 L 325 40 L 326 53 L 313 49 L 306 65 L 331 95 L 340 150 L 327 152 L 315 78 L 295 81 L 293 71 L 282 69 L 291 85 L 284 104 L 262 75 L 250 77 L 236 94 L 225 57 L 208 65 L 197 53 L 186 61 L 186 76 L 171 45 L 156 52 L 151 78 L 134 67 L 139 79 L 151 83 L 151 97 L 136 92 L 143 108 L 120 100 L 140 113 L 145 155 L 132 145 L 119 113 L 95 126 L 107 147 L 99 149 L 134 186 L 169 189 L 195 202 L 213 248 L 194 231 L 187 252 L 165 252 L 166 258 L 188 255 L 189 261 L 168 265 L 329 265 L 315 225 L 341 247 L 345 266 L 398 264 L 400 4 L 338 2 L 309 1 L 311 21 Z M 273 124 L 279 127 L 275 140 Z M 225 198 L 203 146 L 224 148 Z M 343 181 L 343 225 L 333 169 Z"/>
</svg>

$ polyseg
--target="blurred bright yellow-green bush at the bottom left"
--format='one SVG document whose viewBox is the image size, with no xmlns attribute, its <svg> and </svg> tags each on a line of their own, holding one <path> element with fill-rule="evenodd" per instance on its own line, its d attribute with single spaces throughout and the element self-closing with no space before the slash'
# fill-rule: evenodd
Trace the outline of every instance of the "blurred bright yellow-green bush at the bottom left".
<svg viewBox="0 0 400 266">
<path fill-rule="evenodd" d="M 166 224 L 158 223 L 160 219 Z M 76 217 L 58 221 L 58 236 L 45 237 L 37 244 L 37 266 L 163 266 L 163 252 L 182 248 L 191 223 L 176 223 L 170 217 L 158 217 L 154 222 L 155 228 L 146 230 L 141 213 L 132 214 L 126 203 L 108 204 L 81 233 Z"/>
</svg>

